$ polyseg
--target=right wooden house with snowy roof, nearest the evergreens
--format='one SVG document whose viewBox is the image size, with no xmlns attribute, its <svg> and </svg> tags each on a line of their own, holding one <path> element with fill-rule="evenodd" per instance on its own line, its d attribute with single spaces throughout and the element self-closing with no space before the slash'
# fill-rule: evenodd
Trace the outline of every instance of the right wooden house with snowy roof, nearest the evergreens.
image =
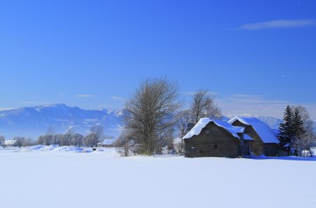
<svg viewBox="0 0 316 208">
<path fill-rule="evenodd" d="M 250 151 L 253 155 L 276 156 L 279 152 L 279 139 L 275 132 L 258 118 L 235 117 L 228 123 L 244 127 L 244 137 L 250 137 Z"/>
</svg>

